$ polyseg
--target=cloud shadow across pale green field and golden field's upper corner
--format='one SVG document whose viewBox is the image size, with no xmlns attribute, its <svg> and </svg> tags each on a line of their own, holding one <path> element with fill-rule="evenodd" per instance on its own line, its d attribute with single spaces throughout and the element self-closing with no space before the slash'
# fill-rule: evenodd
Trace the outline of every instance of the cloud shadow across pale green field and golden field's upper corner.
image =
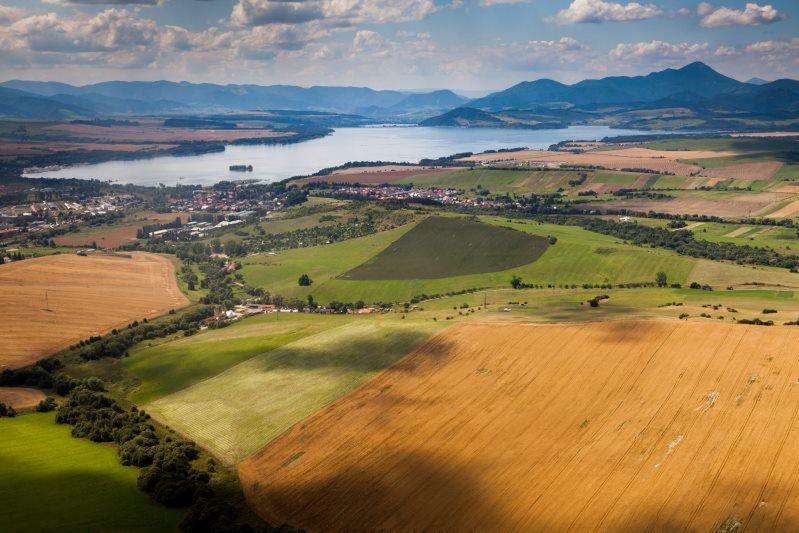
<svg viewBox="0 0 799 533">
<path fill-rule="evenodd" d="M 349 336 L 344 342 L 309 346 L 298 342 L 278 348 L 266 357 L 253 360 L 258 370 L 269 372 L 280 369 L 317 370 L 323 368 L 343 371 L 377 372 L 408 355 L 429 336 L 429 331 L 388 331 L 387 335 Z M 441 336 L 425 343 L 424 354 L 403 361 L 395 367 L 404 372 L 435 364 L 447 357 L 453 344 Z"/>
</svg>

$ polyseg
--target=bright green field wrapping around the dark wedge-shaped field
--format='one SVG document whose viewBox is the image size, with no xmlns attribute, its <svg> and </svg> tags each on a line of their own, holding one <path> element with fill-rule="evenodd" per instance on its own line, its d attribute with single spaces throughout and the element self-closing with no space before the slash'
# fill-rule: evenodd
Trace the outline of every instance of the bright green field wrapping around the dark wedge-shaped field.
<svg viewBox="0 0 799 533">
<path fill-rule="evenodd" d="M 654 280 L 665 271 L 669 280 L 683 283 L 695 260 L 662 249 L 642 249 L 581 228 L 552 224 L 507 222 L 498 217 L 481 221 L 506 225 L 540 237 L 553 236 L 555 245 L 536 261 L 517 268 L 441 279 L 352 280 L 341 279 L 345 272 L 368 261 L 409 231 L 409 226 L 384 231 L 360 239 L 312 248 L 265 254 L 242 260 L 247 283 L 268 288 L 273 294 L 305 298 L 312 294 L 317 302 L 332 300 L 367 303 L 407 301 L 420 294 L 440 294 L 476 287 L 508 287 L 514 275 L 527 283 L 583 284 L 630 283 Z M 299 287 L 297 278 L 307 273 L 314 280 L 310 287 Z"/>
</svg>

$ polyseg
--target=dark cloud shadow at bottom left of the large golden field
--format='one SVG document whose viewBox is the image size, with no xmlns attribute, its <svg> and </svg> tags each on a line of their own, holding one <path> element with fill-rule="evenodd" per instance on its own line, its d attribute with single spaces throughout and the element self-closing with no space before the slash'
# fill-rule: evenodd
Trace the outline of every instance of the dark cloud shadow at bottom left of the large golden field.
<svg viewBox="0 0 799 533">
<path fill-rule="evenodd" d="M 406 450 L 380 457 L 376 465 L 340 465 L 321 480 L 290 478 L 281 484 L 278 474 L 245 490 L 267 521 L 310 530 L 446 531 L 479 524 L 508 529 L 501 502 L 484 490 L 469 464 L 453 463 L 451 457 Z M 251 466 L 258 468 L 245 468 Z"/>
</svg>

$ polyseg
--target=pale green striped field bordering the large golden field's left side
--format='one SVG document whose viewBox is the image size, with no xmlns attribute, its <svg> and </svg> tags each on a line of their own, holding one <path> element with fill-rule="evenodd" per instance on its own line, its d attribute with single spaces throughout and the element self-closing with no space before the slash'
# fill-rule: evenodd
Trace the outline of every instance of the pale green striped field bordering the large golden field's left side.
<svg viewBox="0 0 799 533">
<path fill-rule="evenodd" d="M 410 352 L 442 322 L 360 317 L 253 357 L 148 412 L 228 461 L 283 431 Z"/>
</svg>

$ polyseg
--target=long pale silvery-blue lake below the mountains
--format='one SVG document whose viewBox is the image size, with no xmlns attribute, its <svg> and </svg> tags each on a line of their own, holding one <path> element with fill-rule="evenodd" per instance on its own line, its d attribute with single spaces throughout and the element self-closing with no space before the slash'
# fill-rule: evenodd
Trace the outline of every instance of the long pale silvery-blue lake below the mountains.
<svg viewBox="0 0 799 533">
<path fill-rule="evenodd" d="M 224 152 L 182 157 L 154 157 L 108 161 L 50 172 L 29 178 L 100 179 L 138 185 L 201 184 L 221 180 L 279 181 L 313 174 L 349 161 L 417 162 L 458 152 L 499 148 L 547 148 L 573 139 L 601 139 L 614 135 L 652 134 L 606 126 L 572 126 L 559 130 L 494 128 L 367 127 L 339 128 L 332 135 L 297 144 L 227 146 Z M 252 172 L 230 172 L 230 165 L 252 165 Z"/>
</svg>

